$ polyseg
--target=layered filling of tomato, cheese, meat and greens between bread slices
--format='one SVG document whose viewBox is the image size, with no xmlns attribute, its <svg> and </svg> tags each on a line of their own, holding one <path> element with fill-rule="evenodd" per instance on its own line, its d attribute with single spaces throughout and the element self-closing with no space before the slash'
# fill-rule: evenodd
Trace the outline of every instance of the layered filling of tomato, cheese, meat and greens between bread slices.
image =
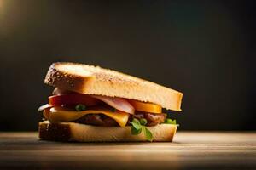
<svg viewBox="0 0 256 170">
<path fill-rule="evenodd" d="M 51 123 L 77 122 L 102 127 L 131 126 L 133 134 L 140 133 L 142 126 L 146 128 L 161 123 L 176 124 L 175 120 L 166 118 L 162 107 L 157 104 L 79 94 L 61 88 L 55 88 L 53 95 L 49 96 L 49 104 L 42 105 L 38 111 L 44 111 L 44 119 Z"/>
</svg>

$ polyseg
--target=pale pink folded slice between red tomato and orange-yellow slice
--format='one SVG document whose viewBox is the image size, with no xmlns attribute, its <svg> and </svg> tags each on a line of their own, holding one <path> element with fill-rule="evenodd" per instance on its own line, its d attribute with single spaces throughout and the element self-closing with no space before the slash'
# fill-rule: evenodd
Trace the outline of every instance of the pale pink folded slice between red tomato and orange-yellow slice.
<svg viewBox="0 0 256 170">
<path fill-rule="evenodd" d="M 102 102 L 112 106 L 119 111 L 124 111 L 132 115 L 134 114 L 134 107 L 126 99 L 102 95 L 91 95 L 91 97 L 102 100 Z"/>
</svg>

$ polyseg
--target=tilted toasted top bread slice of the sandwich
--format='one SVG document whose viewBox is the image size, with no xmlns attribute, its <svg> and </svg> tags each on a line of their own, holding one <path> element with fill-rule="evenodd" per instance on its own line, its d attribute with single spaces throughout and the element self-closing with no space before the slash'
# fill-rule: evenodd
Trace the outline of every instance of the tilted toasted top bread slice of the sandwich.
<svg viewBox="0 0 256 170">
<path fill-rule="evenodd" d="M 181 111 L 183 94 L 137 77 L 99 66 L 53 63 L 44 82 L 81 94 L 106 95 L 152 102 L 163 108 Z"/>
</svg>

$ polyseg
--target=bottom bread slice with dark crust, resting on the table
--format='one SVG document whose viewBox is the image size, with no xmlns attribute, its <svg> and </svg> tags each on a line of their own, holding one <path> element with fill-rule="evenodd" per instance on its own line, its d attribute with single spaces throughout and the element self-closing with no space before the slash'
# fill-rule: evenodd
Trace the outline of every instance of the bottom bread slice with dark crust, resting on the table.
<svg viewBox="0 0 256 170">
<path fill-rule="evenodd" d="M 148 127 L 154 142 L 172 142 L 177 126 L 160 124 Z M 96 127 L 75 122 L 39 122 L 39 138 L 76 142 L 136 142 L 147 141 L 144 133 L 131 134 L 131 127 Z"/>
</svg>

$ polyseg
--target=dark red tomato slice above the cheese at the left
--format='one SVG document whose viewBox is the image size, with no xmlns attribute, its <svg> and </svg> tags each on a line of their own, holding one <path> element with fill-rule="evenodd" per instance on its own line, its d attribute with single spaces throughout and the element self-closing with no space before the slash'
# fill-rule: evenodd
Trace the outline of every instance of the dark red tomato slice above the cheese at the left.
<svg viewBox="0 0 256 170">
<path fill-rule="evenodd" d="M 83 104 L 86 106 L 97 105 L 98 99 L 94 99 L 87 94 L 63 94 L 49 96 L 49 105 L 54 106 L 73 106 Z"/>
</svg>

